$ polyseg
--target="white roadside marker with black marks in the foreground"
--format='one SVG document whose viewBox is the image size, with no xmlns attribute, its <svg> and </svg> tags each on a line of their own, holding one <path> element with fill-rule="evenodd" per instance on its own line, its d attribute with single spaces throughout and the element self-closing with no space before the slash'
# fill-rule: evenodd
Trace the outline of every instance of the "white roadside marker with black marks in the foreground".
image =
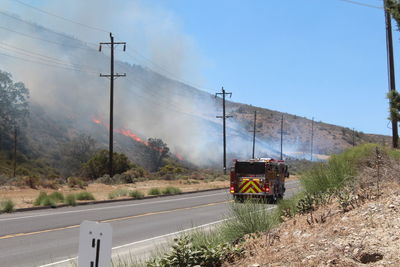
<svg viewBox="0 0 400 267">
<path fill-rule="evenodd" d="M 81 223 L 78 267 L 110 267 L 111 248 L 112 227 L 109 223 Z"/>
</svg>

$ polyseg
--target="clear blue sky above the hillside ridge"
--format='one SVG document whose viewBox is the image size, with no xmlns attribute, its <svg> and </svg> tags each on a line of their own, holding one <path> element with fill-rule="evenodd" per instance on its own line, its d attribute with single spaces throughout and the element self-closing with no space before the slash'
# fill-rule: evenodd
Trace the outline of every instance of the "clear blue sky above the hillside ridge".
<svg viewBox="0 0 400 267">
<path fill-rule="evenodd" d="M 52 9 L 55 2 L 24 1 L 57 13 Z M 382 5 L 379 0 L 358 1 Z M 207 91 L 224 86 L 236 102 L 390 134 L 383 10 L 340 0 L 139 2 L 163 10 L 159 16 L 174 18 L 201 59 L 190 63 L 198 65 Z M 113 8 L 119 8 L 118 1 Z M 67 11 L 61 15 L 69 16 Z M 89 22 L 104 28 L 101 23 Z M 397 29 L 395 23 L 393 27 Z M 397 31 L 394 42 L 397 63 Z M 137 44 L 130 41 L 128 45 L 132 43 Z M 140 45 L 136 48 L 141 49 Z M 396 73 L 400 86 L 400 72 Z M 190 75 L 183 78 L 192 81 Z"/>
</svg>

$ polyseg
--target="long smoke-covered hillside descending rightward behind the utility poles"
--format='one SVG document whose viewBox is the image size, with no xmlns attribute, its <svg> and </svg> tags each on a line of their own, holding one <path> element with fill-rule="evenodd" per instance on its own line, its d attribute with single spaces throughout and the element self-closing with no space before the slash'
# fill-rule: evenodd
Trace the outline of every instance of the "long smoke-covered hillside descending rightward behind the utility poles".
<svg viewBox="0 0 400 267">
<path fill-rule="evenodd" d="M 21 60 L 13 54 L 15 51 L 8 52 L 9 57 L 0 61 L 0 69 L 12 73 L 15 80 L 24 82 L 31 92 L 30 121 L 21 129 L 27 140 L 20 146 L 29 147 L 31 155 L 55 167 L 60 167 L 61 146 L 78 134 L 88 134 L 96 139 L 100 148 L 107 148 L 109 89 L 108 81 L 98 74 L 108 72 L 108 55 L 74 37 L 18 17 L 4 18 L 4 23 L 36 38 L 7 32 L 5 42 L 16 46 L 26 44 L 47 57 L 62 55 L 65 64 L 69 64 L 58 65 L 35 57 L 30 61 Z M 197 166 L 221 166 L 222 124 L 215 117 L 221 114 L 221 99 L 147 67 L 121 60 L 116 63 L 117 71 L 127 74 L 115 85 L 116 151 L 148 167 L 151 162 L 144 157 L 147 149 L 144 141 L 160 138 L 177 158 Z M 254 109 L 258 112 L 257 130 L 260 131 L 256 156 L 279 155 L 282 113 L 266 108 L 227 103 L 228 113 L 233 115 L 227 121 L 229 160 L 251 156 L 249 130 L 252 130 Z M 309 158 L 310 128 L 310 120 L 284 114 L 285 157 Z M 314 152 L 321 154 L 319 159 L 352 144 L 352 131 L 348 128 L 316 122 L 314 129 Z M 357 144 L 382 143 L 383 140 L 386 144 L 390 141 L 388 137 L 360 132 L 355 137 Z"/>
</svg>

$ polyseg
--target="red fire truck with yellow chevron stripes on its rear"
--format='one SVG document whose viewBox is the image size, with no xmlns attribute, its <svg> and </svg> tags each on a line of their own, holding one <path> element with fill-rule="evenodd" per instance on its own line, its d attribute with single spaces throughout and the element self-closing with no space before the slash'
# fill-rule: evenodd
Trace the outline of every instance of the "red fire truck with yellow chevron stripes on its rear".
<svg viewBox="0 0 400 267">
<path fill-rule="evenodd" d="M 231 168 L 230 193 L 235 201 L 260 198 L 276 203 L 285 193 L 285 178 L 289 177 L 284 160 L 258 158 L 247 161 L 234 160 Z"/>
</svg>

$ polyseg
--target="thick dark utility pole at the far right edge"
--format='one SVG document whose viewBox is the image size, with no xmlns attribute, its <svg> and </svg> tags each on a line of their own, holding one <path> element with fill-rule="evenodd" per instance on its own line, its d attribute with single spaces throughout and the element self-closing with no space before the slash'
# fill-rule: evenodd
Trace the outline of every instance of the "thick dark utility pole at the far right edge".
<svg viewBox="0 0 400 267">
<path fill-rule="evenodd" d="M 388 76 L 389 76 L 389 91 L 396 91 L 396 82 L 394 74 L 394 56 L 393 56 L 393 38 L 392 38 L 392 17 L 387 10 L 387 0 L 383 0 L 383 6 L 385 9 L 385 22 L 386 22 L 386 50 L 387 50 L 387 61 L 388 61 Z M 392 107 L 390 107 L 392 108 Z M 398 148 L 399 146 L 399 133 L 397 126 L 397 119 L 392 119 L 392 146 Z"/>
</svg>

